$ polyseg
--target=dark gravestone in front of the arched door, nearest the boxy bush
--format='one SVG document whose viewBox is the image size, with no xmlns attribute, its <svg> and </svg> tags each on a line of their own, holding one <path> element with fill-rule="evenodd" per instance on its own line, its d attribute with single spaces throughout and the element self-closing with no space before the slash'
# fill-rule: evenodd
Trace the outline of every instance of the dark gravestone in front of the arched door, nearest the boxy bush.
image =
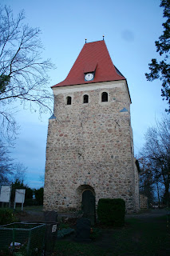
<svg viewBox="0 0 170 256">
<path fill-rule="evenodd" d="M 91 239 L 89 238 L 90 235 L 90 228 L 91 228 L 91 222 L 89 218 L 78 218 L 77 219 L 77 233 L 75 240 L 77 242 L 90 242 Z"/>
</svg>

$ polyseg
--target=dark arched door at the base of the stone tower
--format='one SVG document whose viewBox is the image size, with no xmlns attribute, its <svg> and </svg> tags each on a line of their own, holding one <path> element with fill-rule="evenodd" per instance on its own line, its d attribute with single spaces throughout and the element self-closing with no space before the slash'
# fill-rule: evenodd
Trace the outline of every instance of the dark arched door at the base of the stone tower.
<svg viewBox="0 0 170 256">
<path fill-rule="evenodd" d="M 95 196 L 91 190 L 84 190 L 82 192 L 81 209 L 83 218 L 89 218 L 91 224 L 95 223 Z"/>
</svg>

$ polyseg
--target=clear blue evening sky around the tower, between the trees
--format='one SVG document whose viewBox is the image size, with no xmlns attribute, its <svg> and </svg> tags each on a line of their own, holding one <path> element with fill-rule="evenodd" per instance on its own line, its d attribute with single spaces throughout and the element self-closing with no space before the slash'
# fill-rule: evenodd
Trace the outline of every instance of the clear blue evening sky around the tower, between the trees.
<svg viewBox="0 0 170 256">
<path fill-rule="evenodd" d="M 155 41 L 163 31 L 163 8 L 160 0 L 1 0 L 16 16 L 25 10 L 25 22 L 42 30 L 45 50 L 42 58 L 51 58 L 56 65 L 49 72 L 47 87 L 63 81 L 78 54 L 87 42 L 102 40 L 113 64 L 128 81 L 132 98 L 131 120 L 135 155 L 144 145 L 144 134 L 155 126 L 168 108 L 162 100 L 161 82 L 148 82 L 145 73 L 152 58 L 159 58 Z M 50 114 L 20 110 L 20 125 L 11 156 L 27 167 L 26 183 L 32 188 L 43 186 L 45 146 Z"/>
</svg>

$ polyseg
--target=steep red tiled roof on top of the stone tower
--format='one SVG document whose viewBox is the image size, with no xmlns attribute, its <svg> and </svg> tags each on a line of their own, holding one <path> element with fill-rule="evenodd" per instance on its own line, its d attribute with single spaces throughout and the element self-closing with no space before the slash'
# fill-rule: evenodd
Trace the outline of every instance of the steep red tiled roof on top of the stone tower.
<svg viewBox="0 0 170 256">
<path fill-rule="evenodd" d="M 85 81 L 85 73 L 93 71 L 95 71 L 93 81 Z M 52 88 L 117 80 L 125 80 L 125 77 L 113 65 L 105 41 L 102 40 L 85 43 L 68 76 Z"/>
</svg>

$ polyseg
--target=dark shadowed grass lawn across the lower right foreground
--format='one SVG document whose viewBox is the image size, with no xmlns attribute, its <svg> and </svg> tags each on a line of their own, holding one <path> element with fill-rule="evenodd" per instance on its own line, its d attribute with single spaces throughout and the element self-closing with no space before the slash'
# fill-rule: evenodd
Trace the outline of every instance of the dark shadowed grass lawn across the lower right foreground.
<svg viewBox="0 0 170 256">
<path fill-rule="evenodd" d="M 123 228 L 101 231 L 101 236 L 89 243 L 57 241 L 53 256 L 170 255 L 166 216 L 141 220 L 129 218 Z"/>
</svg>

